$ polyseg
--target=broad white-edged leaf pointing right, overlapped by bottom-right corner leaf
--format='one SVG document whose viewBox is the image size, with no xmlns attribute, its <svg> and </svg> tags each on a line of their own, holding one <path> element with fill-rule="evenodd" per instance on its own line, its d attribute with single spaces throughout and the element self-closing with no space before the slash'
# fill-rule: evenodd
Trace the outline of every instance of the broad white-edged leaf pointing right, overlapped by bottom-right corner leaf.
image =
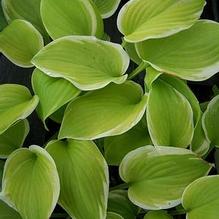
<svg viewBox="0 0 219 219">
<path fill-rule="evenodd" d="M 210 169 L 190 150 L 145 146 L 125 156 L 120 176 L 128 183 L 128 196 L 135 205 L 159 210 L 180 204 L 186 186 Z"/>
</svg>

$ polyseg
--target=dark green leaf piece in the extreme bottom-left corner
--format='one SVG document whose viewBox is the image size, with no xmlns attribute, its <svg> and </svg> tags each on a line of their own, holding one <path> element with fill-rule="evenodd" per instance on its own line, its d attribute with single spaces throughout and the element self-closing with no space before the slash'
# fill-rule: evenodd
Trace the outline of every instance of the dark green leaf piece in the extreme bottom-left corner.
<svg viewBox="0 0 219 219">
<path fill-rule="evenodd" d="M 21 216 L 5 202 L 0 199 L 0 218 L 1 219 L 22 219 Z"/>
</svg>

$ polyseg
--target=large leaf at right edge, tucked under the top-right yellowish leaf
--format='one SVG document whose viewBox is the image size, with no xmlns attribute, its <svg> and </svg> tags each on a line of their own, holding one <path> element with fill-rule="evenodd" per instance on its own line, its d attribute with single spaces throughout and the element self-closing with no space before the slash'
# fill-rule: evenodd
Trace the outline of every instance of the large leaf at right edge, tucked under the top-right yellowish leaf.
<svg viewBox="0 0 219 219">
<path fill-rule="evenodd" d="M 202 81 L 219 69 L 218 38 L 219 24 L 202 20 L 173 36 L 138 43 L 137 52 L 158 71 Z"/>
</svg>

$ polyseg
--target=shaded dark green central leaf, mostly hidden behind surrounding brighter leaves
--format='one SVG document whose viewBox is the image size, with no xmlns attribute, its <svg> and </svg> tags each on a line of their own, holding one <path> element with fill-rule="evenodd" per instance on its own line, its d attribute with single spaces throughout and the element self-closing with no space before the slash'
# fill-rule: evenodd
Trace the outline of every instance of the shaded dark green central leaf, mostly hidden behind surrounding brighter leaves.
<svg viewBox="0 0 219 219">
<path fill-rule="evenodd" d="M 104 156 L 109 165 L 119 165 L 128 152 L 152 143 L 144 121 L 124 134 L 104 139 Z"/>
</svg>

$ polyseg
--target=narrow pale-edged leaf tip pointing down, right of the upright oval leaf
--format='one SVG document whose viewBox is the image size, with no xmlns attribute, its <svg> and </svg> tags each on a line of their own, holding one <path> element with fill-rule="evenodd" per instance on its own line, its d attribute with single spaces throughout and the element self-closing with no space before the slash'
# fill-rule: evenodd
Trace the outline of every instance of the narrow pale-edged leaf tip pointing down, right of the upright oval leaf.
<svg viewBox="0 0 219 219">
<path fill-rule="evenodd" d="M 204 130 L 202 128 L 202 117 L 199 119 L 199 122 L 195 127 L 190 148 L 199 156 L 204 156 L 210 149 L 210 142 L 206 138 Z"/>
</svg>

